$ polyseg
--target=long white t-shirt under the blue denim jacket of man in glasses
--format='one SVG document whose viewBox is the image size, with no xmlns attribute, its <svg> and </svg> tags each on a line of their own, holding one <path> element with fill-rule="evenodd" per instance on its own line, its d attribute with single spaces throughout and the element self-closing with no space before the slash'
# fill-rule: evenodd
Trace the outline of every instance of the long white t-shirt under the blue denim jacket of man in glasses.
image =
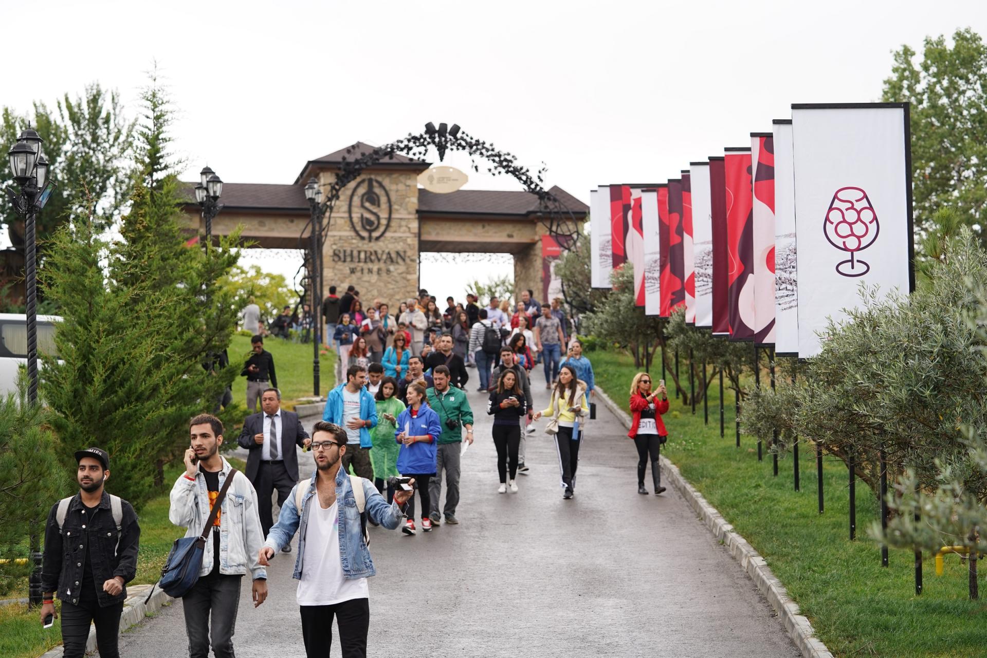
<svg viewBox="0 0 987 658">
<path fill-rule="evenodd" d="M 304 567 L 295 594 L 298 605 L 332 606 L 352 599 L 370 598 L 366 578 L 346 580 L 342 574 L 339 503 L 323 509 L 316 494 L 309 500 L 309 505 Z"/>
</svg>

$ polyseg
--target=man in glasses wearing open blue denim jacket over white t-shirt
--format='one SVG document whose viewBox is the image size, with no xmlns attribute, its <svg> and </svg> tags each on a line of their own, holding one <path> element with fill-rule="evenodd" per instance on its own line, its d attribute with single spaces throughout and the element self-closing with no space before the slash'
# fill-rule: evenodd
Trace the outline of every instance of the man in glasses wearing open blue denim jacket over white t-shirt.
<svg viewBox="0 0 987 658">
<path fill-rule="evenodd" d="M 316 472 L 295 485 L 258 553 L 258 560 L 266 565 L 298 533 L 293 577 L 298 581 L 295 597 L 310 658 L 329 655 L 334 617 L 342 655 L 366 656 L 370 626 L 367 578 L 375 570 L 364 541 L 363 518 L 394 530 L 401 523 L 401 507 L 412 495 L 411 490 L 398 490 L 394 502 L 388 504 L 373 482 L 347 476 L 340 468 L 342 456 L 351 447 L 346 441 L 346 430 L 339 425 L 315 424 L 312 455 Z M 358 487 L 355 492 L 354 487 Z"/>
</svg>

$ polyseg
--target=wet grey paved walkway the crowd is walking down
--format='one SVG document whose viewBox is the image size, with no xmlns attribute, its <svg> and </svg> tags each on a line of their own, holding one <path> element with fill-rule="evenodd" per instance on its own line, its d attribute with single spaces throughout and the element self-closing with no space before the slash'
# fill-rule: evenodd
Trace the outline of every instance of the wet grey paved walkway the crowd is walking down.
<svg viewBox="0 0 987 658">
<path fill-rule="evenodd" d="M 541 373 L 532 379 L 542 408 Z M 555 446 L 541 431 L 528 437 L 531 472 L 519 475 L 520 491 L 496 493 L 486 396 L 471 391 L 470 402 L 477 443 L 463 458 L 460 525 L 415 537 L 371 529 L 369 655 L 797 657 L 768 603 L 685 501 L 671 488 L 637 492 L 637 453 L 603 404 L 588 423 L 575 497 L 563 500 Z M 299 459 L 311 474 L 311 454 Z M 240 658 L 305 655 L 294 557 L 275 558 L 269 597 L 256 610 L 245 583 Z M 182 604 L 123 635 L 120 654 L 188 655 Z"/>
</svg>

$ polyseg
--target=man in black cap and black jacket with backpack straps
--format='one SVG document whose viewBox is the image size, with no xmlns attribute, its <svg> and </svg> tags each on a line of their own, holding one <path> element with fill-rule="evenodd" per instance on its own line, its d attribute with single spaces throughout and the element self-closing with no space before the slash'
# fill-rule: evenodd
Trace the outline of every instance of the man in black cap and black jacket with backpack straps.
<svg viewBox="0 0 987 658">
<path fill-rule="evenodd" d="M 110 479 L 107 451 L 79 450 L 75 461 L 79 493 L 52 505 L 44 527 L 40 617 L 57 617 L 57 593 L 65 658 L 85 655 L 93 621 L 100 655 L 117 658 L 126 584 L 137 572 L 140 526 L 130 503 L 104 491 Z"/>
</svg>

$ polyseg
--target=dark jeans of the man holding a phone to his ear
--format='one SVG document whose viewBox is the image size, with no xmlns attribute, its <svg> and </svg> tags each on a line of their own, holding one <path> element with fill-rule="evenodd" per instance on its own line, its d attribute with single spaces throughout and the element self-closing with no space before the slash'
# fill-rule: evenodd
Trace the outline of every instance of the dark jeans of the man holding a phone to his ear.
<svg viewBox="0 0 987 658">
<path fill-rule="evenodd" d="M 210 644 L 216 658 L 234 658 L 233 632 L 242 578 L 210 573 L 199 578 L 182 598 L 189 634 L 189 658 L 207 658 Z"/>
</svg>

